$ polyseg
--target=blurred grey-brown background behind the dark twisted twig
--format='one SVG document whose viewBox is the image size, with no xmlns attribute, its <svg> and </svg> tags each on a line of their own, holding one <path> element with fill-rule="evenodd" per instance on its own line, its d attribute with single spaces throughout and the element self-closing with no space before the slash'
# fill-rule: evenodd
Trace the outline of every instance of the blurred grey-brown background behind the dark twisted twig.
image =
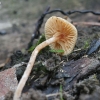
<svg viewBox="0 0 100 100">
<path fill-rule="evenodd" d="M 31 39 L 35 24 L 47 7 L 63 11 L 100 11 L 100 0 L 0 0 L 0 63 L 5 62 L 14 51 L 24 51 Z M 46 16 L 45 21 L 53 13 Z M 62 16 L 65 17 L 65 16 Z M 73 21 L 100 21 L 93 14 L 72 14 Z M 44 21 L 44 22 L 45 22 Z M 43 27 L 41 33 L 44 33 Z"/>
</svg>

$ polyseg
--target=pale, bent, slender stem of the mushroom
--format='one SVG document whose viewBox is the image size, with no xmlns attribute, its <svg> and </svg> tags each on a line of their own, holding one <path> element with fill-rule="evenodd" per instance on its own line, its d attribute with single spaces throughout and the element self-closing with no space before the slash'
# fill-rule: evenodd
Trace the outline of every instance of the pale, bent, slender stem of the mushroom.
<svg viewBox="0 0 100 100">
<path fill-rule="evenodd" d="M 49 44 L 53 43 L 53 42 L 56 42 L 58 40 L 57 37 L 52 37 L 44 42 L 42 42 L 41 44 L 39 44 L 35 50 L 32 52 L 31 54 L 31 57 L 30 57 L 30 60 L 28 62 L 28 65 L 27 65 L 27 68 L 17 86 L 17 89 L 15 91 L 15 94 L 14 94 L 14 99 L 13 100 L 20 100 L 20 96 L 21 96 L 21 92 L 23 90 L 23 87 L 25 86 L 25 83 L 30 75 L 30 72 L 33 68 L 33 65 L 34 65 L 34 62 L 35 62 L 35 59 L 36 59 L 36 56 L 37 54 L 39 53 L 39 51 L 41 49 L 43 49 L 44 47 L 48 46 Z"/>
</svg>

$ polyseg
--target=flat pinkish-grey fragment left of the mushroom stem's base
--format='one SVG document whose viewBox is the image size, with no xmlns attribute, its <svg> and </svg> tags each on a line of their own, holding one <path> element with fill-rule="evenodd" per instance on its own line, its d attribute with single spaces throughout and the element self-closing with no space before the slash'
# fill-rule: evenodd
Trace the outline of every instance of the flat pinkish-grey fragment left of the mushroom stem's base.
<svg viewBox="0 0 100 100">
<path fill-rule="evenodd" d="M 4 100 L 9 91 L 15 91 L 18 85 L 16 69 L 10 68 L 0 72 L 0 100 Z"/>
</svg>

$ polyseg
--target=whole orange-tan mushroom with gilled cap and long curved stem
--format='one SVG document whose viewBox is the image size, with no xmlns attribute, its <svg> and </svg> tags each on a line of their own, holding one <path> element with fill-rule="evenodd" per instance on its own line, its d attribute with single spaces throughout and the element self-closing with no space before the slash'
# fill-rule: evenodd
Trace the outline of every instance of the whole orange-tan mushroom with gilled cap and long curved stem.
<svg viewBox="0 0 100 100">
<path fill-rule="evenodd" d="M 39 51 L 50 45 L 52 49 L 64 50 L 63 55 L 70 54 L 77 40 L 77 29 L 67 20 L 52 16 L 45 24 L 45 37 L 46 41 L 39 44 L 32 52 L 27 68 L 15 91 L 14 100 L 20 100 L 22 89 L 29 77 Z"/>
</svg>

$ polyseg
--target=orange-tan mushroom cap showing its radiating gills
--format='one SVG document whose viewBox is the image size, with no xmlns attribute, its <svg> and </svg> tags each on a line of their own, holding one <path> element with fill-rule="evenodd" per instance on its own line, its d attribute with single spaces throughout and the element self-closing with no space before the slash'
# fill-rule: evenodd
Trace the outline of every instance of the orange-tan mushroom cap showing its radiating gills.
<svg viewBox="0 0 100 100">
<path fill-rule="evenodd" d="M 53 36 L 58 39 L 50 44 L 50 47 L 54 50 L 64 50 L 62 55 L 68 55 L 76 44 L 77 29 L 69 21 L 52 16 L 45 24 L 45 37 L 49 39 Z"/>
</svg>

